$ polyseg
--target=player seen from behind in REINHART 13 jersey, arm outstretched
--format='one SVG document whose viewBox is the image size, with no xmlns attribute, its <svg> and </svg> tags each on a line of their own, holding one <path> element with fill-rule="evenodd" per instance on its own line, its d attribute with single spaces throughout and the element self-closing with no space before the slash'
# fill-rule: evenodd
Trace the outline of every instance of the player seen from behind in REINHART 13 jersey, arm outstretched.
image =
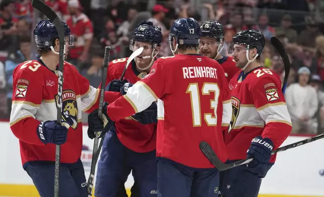
<svg viewBox="0 0 324 197">
<path fill-rule="evenodd" d="M 200 141 L 227 160 L 222 126 L 230 122 L 228 84 L 218 62 L 197 53 L 200 35 L 196 20 L 177 19 L 169 34 L 177 54 L 157 59 L 145 78 L 104 110 L 110 127 L 157 101 L 157 196 L 215 195 L 218 171 L 200 151 Z"/>
</svg>

